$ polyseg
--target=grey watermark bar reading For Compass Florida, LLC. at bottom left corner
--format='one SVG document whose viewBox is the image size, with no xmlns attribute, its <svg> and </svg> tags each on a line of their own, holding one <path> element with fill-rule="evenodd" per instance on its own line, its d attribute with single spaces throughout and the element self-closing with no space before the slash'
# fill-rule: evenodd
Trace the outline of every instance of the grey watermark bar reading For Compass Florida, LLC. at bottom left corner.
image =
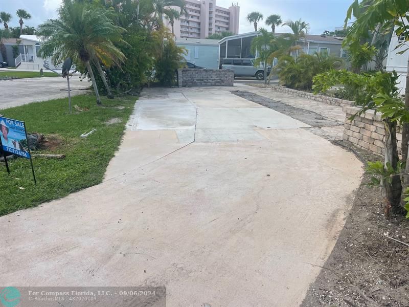
<svg viewBox="0 0 409 307">
<path fill-rule="evenodd" d="M 1 287 L 1 307 L 166 307 L 165 287 Z"/>
</svg>

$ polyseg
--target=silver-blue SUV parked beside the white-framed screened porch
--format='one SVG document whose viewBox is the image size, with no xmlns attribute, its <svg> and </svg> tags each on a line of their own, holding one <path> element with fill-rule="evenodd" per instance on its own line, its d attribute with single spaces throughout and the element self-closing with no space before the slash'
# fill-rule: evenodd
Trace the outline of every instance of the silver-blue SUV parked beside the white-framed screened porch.
<svg viewBox="0 0 409 307">
<path fill-rule="evenodd" d="M 234 71 L 235 77 L 256 77 L 257 80 L 264 80 L 263 67 L 255 67 L 254 59 L 220 59 L 221 69 Z M 271 72 L 271 67 L 267 67 L 267 76 Z"/>
</svg>

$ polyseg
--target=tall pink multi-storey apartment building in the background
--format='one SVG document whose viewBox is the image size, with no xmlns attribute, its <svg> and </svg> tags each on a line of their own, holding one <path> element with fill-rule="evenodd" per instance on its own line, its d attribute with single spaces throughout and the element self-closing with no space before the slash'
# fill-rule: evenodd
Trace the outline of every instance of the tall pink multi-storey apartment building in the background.
<svg viewBox="0 0 409 307">
<path fill-rule="evenodd" d="M 226 9 L 216 6 L 216 0 L 186 0 L 186 10 L 186 16 L 174 21 L 176 37 L 206 38 L 225 31 L 239 33 L 240 7 L 237 3 Z M 171 29 L 169 22 L 164 21 Z"/>
</svg>

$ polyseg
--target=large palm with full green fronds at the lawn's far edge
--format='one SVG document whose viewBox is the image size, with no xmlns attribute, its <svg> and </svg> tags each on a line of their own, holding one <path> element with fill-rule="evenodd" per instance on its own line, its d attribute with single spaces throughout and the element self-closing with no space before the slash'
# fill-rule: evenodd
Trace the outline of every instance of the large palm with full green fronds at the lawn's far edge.
<svg viewBox="0 0 409 307">
<path fill-rule="evenodd" d="M 49 19 L 38 29 L 38 35 L 43 36 L 41 57 L 52 56 L 54 64 L 71 57 L 74 63 L 86 67 L 97 96 L 97 104 L 101 105 L 90 62 L 98 59 L 109 66 L 123 61 L 125 56 L 113 45 L 113 41 L 122 39 L 124 29 L 112 23 L 107 10 L 77 3 L 75 0 L 63 0 L 63 5 L 58 10 L 58 19 Z M 105 79 L 104 76 L 101 78 Z"/>
</svg>

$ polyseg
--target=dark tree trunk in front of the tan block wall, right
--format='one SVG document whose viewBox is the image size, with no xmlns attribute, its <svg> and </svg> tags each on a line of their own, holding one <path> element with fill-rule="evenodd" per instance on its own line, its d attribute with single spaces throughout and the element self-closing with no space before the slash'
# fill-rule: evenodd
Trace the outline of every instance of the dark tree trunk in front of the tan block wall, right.
<svg viewBox="0 0 409 307">
<path fill-rule="evenodd" d="M 385 125 L 385 157 L 384 167 L 387 170 L 387 164 L 390 164 L 393 169 L 396 169 L 399 156 L 396 143 L 396 122 L 391 122 L 390 119 L 384 120 Z M 397 208 L 400 206 L 402 184 L 399 176 L 393 176 L 392 182 L 382 180 L 383 195 L 385 201 L 385 216 L 389 216 L 391 208 Z"/>
</svg>

